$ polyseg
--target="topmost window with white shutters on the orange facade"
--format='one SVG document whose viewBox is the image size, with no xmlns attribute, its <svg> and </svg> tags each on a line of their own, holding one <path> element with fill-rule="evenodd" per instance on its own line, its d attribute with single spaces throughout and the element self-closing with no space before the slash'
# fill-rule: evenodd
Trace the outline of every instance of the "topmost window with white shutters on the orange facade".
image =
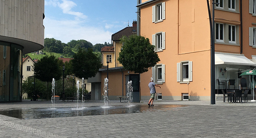
<svg viewBox="0 0 256 138">
<path fill-rule="evenodd" d="M 161 16 L 159 18 L 159 16 Z M 152 6 L 152 22 L 162 22 L 165 19 L 165 2 Z"/>
</svg>

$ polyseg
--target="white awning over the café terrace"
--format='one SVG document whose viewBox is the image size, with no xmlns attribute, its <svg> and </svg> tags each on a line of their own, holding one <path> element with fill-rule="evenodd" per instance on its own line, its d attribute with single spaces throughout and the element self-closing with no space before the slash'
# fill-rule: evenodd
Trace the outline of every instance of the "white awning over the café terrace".
<svg viewBox="0 0 256 138">
<path fill-rule="evenodd" d="M 246 58 L 243 54 L 229 54 L 229 53 L 217 53 L 216 52 L 215 53 L 215 65 L 218 65 L 218 64 L 256 66 L 256 63 L 254 63 L 250 59 Z"/>
</svg>

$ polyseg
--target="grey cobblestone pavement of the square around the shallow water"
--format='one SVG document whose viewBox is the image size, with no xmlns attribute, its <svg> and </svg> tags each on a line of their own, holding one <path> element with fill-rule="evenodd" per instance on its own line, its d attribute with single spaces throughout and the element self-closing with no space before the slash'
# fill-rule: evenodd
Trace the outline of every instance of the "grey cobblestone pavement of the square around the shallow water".
<svg viewBox="0 0 256 138">
<path fill-rule="evenodd" d="M 119 100 L 109 105 L 122 105 Z M 86 102 L 85 106 L 102 105 Z M 137 104 L 147 104 L 142 101 Z M 171 110 L 131 114 L 108 114 L 62 118 L 18 119 L 0 115 L 1 138 L 252 138 L 256 135 L 256 102 L 156 101 L 158 104 L 183 104 Z M 50 101 L 0 103 L 10 108 L 47 108 Z M 76 102 L 56 101 L 55 107 L 76 106 Z"/>
</svg>

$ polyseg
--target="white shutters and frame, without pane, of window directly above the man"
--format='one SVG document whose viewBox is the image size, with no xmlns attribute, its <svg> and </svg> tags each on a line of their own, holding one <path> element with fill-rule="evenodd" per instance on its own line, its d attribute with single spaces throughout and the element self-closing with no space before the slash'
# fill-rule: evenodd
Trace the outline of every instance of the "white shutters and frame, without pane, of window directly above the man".
<svg viewBox="0 0 256 138">
<path fill-rule="evenodd" d="M 162 78 L 158 79 L 158 69 L 160 68 L 162 69 Z M 152 78 L 155 84 L 162 84 L 165 82 L 165 64 L 156 64 L 154 67 L 152 67 Z"/>
</svg>

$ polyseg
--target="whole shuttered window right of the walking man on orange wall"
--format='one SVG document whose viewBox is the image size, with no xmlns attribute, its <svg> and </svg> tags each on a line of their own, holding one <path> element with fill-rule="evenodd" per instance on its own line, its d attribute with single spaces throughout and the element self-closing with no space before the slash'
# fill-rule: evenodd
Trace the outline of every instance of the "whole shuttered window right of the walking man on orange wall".
<svg viewBox="0 0 256 138">
<path fill-rule="evenodd" d="M 192 81 L 192 61 L 177 63 L 177 82 Z"/>
</svg>

